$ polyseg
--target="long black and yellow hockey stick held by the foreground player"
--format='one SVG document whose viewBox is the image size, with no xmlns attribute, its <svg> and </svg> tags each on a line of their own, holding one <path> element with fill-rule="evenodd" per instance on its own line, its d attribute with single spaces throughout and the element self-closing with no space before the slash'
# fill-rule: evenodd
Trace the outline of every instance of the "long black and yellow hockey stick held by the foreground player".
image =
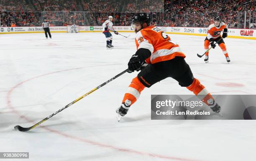
<svg viewBox="0 0 256 161">
<path fill-rule="evenodd" d="M 68 108 L 69 106 L 73 105 L 73 104 L 76 103 L 77 101 L 79 101 L 79 100 L 81 100 L 82 98 L 88 96 L 89 94 L 91 94 L 92 92 L 96 91 L 96 90 L 99 89 L 100 87 L 105 86 L 106 84 L 110 83 L 110 82 L 113 81 L 115 78 L 118 78 L 120 75 L 123 75 L 123 74 L 126 73 L 127 71 L 128 71 L 128 69 L 122 71 L 122 72 L 119 73 L 118 75 L 115 75 L 113 78 L 111 78 L 111 79 L 109 79 L 108 81 L 102 83 L 100 86 L 97 86 L 96 88 L 92 89 L 90 92 L 84 94 L 83 96 L 77 98 L 75 101 L 69 103 L 69 104 L 66 105 L 65 107 L 59 109 L 59 111 L 56 111 L 55 113 L 53 113 L 53 114 L 51 114 L 50 116 L 44 118 L 42 121 L 36 123 L 35 125 L 33 125 L 33 126 L 29 127 L 29 128 L 23 128 L 23 127 L 21 127 L 21 126 L 19 126 L 19 125 L 16 125 L 14 128 L 15 128 L 16 130 L 18 130 L 18 131 L 24 131 L 24 132 L 31 130 L 32 128 L 38 126 L 39 124 L 41 124 L 41 123 L 43 123 L 44 121 L 48 120 L 49 118 L 51 118 L 52 116 L 56 115 L 57 113 L 63 111 L 65 108 Z"/>
</svg>

